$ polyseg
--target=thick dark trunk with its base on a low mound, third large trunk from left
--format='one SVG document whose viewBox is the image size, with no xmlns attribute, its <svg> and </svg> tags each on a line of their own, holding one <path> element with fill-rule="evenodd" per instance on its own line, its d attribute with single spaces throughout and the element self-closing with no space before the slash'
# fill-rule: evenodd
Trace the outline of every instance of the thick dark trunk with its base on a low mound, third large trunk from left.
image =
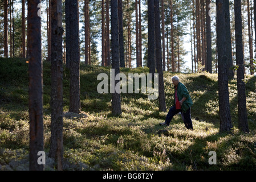
<svg viewBox="0 0 256 182">
<path fill-rule="evenodd" d="M 80 113 L 80 55 L 79 55 L 79 18 L 78 0 L 66 0 L 70 7 L 70 108 L 73 113 Z M 67 50 L 68 51 L 68 50 Z M 72 60 L 71 60 L 72 58 Z"/>
</svg>

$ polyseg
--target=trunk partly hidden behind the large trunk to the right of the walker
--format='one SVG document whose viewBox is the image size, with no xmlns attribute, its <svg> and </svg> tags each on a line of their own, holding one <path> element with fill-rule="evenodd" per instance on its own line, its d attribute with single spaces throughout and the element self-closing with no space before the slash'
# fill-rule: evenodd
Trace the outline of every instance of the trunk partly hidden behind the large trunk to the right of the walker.
<svg viewBox="0 0 256 182">
<path fill-rule="evenodd" d="M 232 58 L 232 46 L 231 46 L 231 33 L 230 33 L 230 14 L 229 14 L 229 1 L 224 1 L 225 9 L 225 25 L 226 25 L 226 56 L 227 56 L 227 76 L 229 79 L 234 78 L 233 71 L 233 58 Z"/>
</svg>

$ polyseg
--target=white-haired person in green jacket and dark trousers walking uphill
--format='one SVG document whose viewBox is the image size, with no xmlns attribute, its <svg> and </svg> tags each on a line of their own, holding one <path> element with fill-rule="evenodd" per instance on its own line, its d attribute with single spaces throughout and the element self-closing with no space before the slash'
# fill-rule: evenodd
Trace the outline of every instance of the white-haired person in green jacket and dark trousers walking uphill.
<svg viewBox="0 0 256 182">
<path fill-rule="evenodd" d="M 188 89 L 186 86 L 180 82 L 180 78 L 177 76 L 172 77 L 172 83 L 174 85 L 174 105 L 170 107 L 168 114 L 164 123 L 160 123 L 161 126 L 169 126 L 170 121 L 172 120 L 175 114 L 181 113 L 182 119 L 187 129 L 193 130 L 191 115 L 190 115 L 190 106 L 193 102 L 189 95 Z"/>
</svg>

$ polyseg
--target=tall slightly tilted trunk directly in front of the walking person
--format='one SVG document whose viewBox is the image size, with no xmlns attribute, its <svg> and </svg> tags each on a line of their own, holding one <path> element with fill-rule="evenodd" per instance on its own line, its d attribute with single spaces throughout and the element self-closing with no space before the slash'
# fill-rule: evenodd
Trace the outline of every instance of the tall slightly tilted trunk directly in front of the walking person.
<svg viewBox="0 0 256 182">
<path fill-rule="evenodd" d="M 154 0 L 155 5 L 155 35 L 156 35 L 156 63 L 159 74 L 159 111 L 166 111 L 164 93 L 164 74 L 162 72 L 162 52 L 161 52 L 161 28 L 159 0 Z"/>
</svg>

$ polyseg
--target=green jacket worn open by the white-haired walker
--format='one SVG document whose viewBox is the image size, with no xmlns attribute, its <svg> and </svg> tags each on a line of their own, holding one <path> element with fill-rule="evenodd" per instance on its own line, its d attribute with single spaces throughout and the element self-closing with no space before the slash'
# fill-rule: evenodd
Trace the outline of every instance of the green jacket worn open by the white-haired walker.
<svg viewBox="0 0 256 182">
<path fill-rule="evenodd" d="M 177 94 L 178 94 L 179 101 L 182 100 L 183 97 L 186 97 L 186 100 L 181 105 L 181 110 L 184 113 L 186 113 L 186 110 L 188 110 L 189 107 L 193 105 L 193 102 L 189 95 L 188 89 L 186 89 L 186 86 L 184 84 L 182 84 L 181 82 L 178 82 Z M 175 105 L 175 90 L 174 90 L 174 100 L 173 101 L 174 101 L 174 105 Z"/>
</svg>

